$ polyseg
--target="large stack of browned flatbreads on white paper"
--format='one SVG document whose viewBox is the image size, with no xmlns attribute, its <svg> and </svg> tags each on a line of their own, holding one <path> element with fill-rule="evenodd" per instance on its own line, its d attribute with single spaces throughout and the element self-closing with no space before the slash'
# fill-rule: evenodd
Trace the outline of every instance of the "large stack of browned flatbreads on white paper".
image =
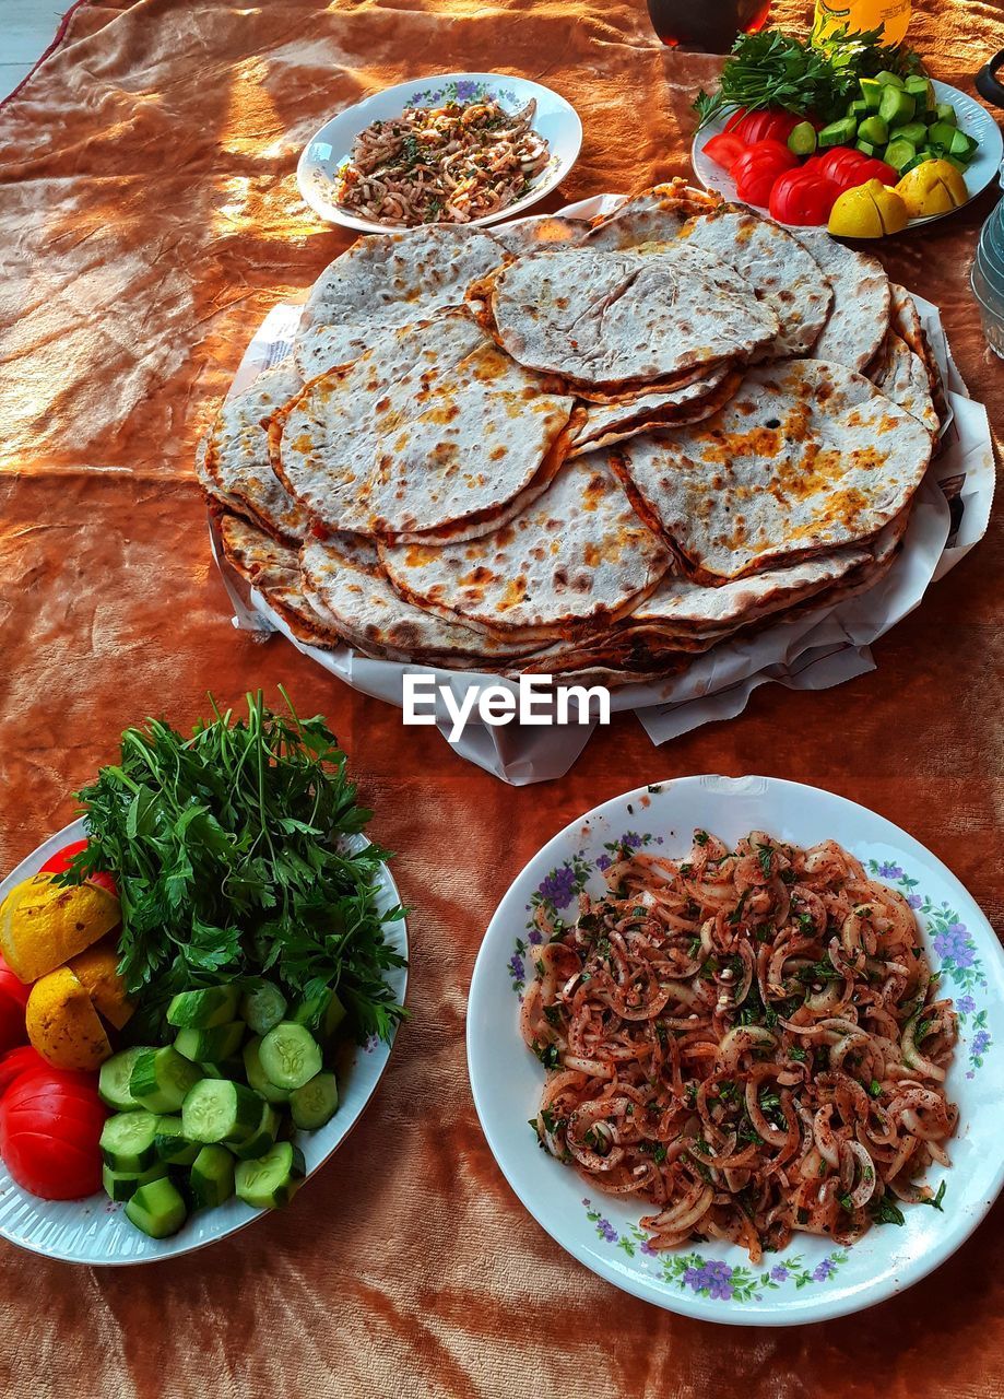
<svg viewBox="0 0 1004 1399">
<path fill-rule="evenodd" d="M 873 588 L 942 417 L 875 259 L 674 182 L 361 239 L 197 471 L 302 641 L 622 684 Z"/>
</svg>

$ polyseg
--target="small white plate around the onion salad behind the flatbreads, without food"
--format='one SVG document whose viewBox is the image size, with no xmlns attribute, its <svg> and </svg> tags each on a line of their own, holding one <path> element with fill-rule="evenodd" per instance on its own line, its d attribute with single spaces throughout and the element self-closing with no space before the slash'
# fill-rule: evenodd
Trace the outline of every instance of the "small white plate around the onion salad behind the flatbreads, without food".
<svg viewBox="0 0 1004 1399">
<path fill-rule="evenodd" d="M 550 194 L 572 169 L 582 145 L 582 122 L 575 108 L 551 88 L 527 78 L 506 77 L 505 73 L 432 74 L 385 88 L 345 112 L 338 112 L 303 147 L 296 165 L 301 194 L 329 224 L 358 228 L 364 234 L 389 234 L 404 228 L 404 224 L 378 224 L 371 218 L 358 218 L 334 203 L 338 169 L 348 161 L 352 141 L 371 122 L 400 116 L 406 106 L 440 106 L 450 101 L 473 102 L 484 98 L 494 98 L 506 112 L 519 112 L 531 98 L 536 99 L 533 129 L 547 139 L 551 148 L 551 158 L 534 176 L 529 194 L 485 218 L 473 218 L 471 224 L 498 224 L 503 218 L 512 218 Z"/>
</svg>

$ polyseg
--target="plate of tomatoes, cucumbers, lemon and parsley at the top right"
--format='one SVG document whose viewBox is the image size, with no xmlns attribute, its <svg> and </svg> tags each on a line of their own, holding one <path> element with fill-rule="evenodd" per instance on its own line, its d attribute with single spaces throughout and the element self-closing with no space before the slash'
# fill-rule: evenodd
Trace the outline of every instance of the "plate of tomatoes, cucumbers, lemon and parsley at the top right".
<svg viewBox="0 0 1004 1399">
<path fill-rule="evenodd" d="M 979 102 L 877 34 L 838 34 L 825 48 L 779 31 L 744 35 L 720 90 L 695 106 L 691 158 L 706 189 L 846 238 L 954 213 L 993 182 L 1004 155 Z"/>
</svg>

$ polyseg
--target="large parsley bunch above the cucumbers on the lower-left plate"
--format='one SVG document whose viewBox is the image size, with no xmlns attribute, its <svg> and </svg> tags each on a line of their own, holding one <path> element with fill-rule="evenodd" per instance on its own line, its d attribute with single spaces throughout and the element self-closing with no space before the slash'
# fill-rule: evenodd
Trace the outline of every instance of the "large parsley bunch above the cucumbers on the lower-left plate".
<svg viewBox="0 0 1004 1399">
<path fill-rule="evenodd" d="M 281 690 L 281 687 L 280 687 Z M 88 845 L 63 876 L 115 876 L 119 970 L 145 1032 L 179 990 L 268 975 L 295 1003 L 338 992 L 361 1039 L 404 1017 L 386 982 L 404 958 L 387 943 L 375 874 L 387 852 L 350 853 L 372 811 L 323 719 L 289 718 L 248 695 L 185 739 L 147 719 L 122 755 L 77 793 Z"/>
</svg>

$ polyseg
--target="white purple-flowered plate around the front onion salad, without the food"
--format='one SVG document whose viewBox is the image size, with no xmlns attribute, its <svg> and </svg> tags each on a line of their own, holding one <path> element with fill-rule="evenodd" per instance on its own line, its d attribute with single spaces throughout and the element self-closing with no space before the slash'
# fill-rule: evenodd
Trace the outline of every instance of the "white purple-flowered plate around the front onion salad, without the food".
<svg viewBox="0 0 1004 1399">
<path fill-rule="evenodd" d="M 763 830 L 811 845 L 832 837 L 870 874 L 901 890 L 927 933 L 945 993 L 955 1000 L 961 1039 L 948 1091 L 961 1121 L 944 1213 L 908 1206 L 902 1228 L 871 1228 L 852 1248 L 796 1234 L 783 1254 L 754 1269 L 744 1249 L 699 1244 L 646 1254 L 640 1202 L 604 1196 L 537 1146 L 527 1125 L 544 1070 L 519 1032 L 526 964 L 540 942 L 531 911 L 559 912 L 622 841 L 678 856 L 702 827 L 733 842 Z M 1004 1038 L 1004 954 L 993 929 L 955 876 L 912 837 L 845 797 L 775 778 L 694 776 L 638 788 L 573 821 L 516 877 L 491 921 L 474 967 L 467 1009 L 467 1065 L 488 1144 L 527 1210 L 562 1248 L 617 1287 L 668 1311 L 737 1326 L 789 1326 L 860 1311 L 892 1297 L 942 1263 L 969 1237 L 1004 1184 L 998 1115 Z"/>
</svg>

